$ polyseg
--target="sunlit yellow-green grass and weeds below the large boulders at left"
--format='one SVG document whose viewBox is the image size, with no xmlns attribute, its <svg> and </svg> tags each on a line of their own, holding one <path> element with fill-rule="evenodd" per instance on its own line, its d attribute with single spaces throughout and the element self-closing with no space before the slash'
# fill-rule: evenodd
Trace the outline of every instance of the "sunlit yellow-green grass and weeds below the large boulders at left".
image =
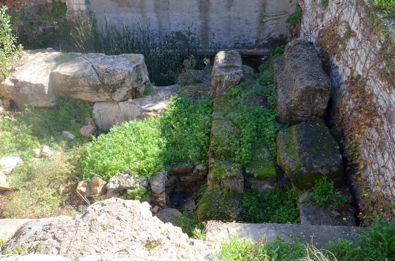
<svg viewBox="0 0 395 261">
<path fill-rule="evenodd" d="M 63 98 L 53 109 L 29 108 L 0 113 L 0 158 L 18 156 L 24 161 L 9 177 L 12 193 L 1 195 L 0 218 L 42 218 L 77 213 L 74 204 L 78 199 L 63 198 L 76 188 L 74 173 L 80 149 L 89 141 L 79 135 L 79 129 L 85 118 L 91 117 L 92 110 L 92 104 Z M 64 139 L 63 130 L 75 134 L 76 138 Z M 43 145 L 60 154 L 50 159 L 34 158 L 32 150 Z M 61 187 L 63 196 L 58 192 Z"/>
</svg>

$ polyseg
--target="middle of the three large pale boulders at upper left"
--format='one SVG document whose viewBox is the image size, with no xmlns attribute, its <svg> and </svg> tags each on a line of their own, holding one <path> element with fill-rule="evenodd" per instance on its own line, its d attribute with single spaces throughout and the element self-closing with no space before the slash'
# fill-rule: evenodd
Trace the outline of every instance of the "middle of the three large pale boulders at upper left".
<svg viewBox="0 0 395 261">
<path fill-rule="evenodd" d="M 51 76 L 61 94 L 91 102 L 111 100 L 108 86 L 100 82 L 93 65 L 83 57 L 58 65 Z"/>
</svg>

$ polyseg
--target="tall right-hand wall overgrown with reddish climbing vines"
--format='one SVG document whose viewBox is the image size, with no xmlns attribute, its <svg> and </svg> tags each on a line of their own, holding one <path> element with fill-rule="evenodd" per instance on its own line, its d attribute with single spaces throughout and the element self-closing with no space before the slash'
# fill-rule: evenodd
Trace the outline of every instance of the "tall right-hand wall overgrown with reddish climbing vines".
<svg viewBox="0 0 395 261">
<path fill-rule="evenodd" d="M 369 214 L 384 209 L 386 215 L 392 215 L 394 34 L 364 0 L 329 0 L 327 7 L 319 0 L 303 0 L 300 5 L 301 38 L 314 42 L 329 57 L 332 116 L 342 127 L 345 155 L 361 171 L 354 179 L 360 205 L 368 209 L 373 204 Z"/>
</svg>

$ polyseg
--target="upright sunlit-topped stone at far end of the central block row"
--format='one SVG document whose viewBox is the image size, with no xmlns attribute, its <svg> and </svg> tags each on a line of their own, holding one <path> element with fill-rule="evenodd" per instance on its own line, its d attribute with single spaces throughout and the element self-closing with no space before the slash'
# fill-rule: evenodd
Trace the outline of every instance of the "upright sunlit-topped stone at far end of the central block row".
<svg viewBox="0 0 395 261">
<path fill-rule="evenodd" d="M 223 95 L 244 80 L 241 56 L 236 50 L 221 51 L 215 55 L 211 74 L 210 97 Z"/>
</svg>

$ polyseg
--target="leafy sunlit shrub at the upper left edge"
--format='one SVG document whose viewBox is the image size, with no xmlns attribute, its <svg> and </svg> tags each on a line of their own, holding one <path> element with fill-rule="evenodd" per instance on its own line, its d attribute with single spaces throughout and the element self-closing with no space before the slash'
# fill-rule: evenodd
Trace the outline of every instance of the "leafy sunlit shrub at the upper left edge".
<svg viewBox="0 0 395 261">
<path fill-rule="evenodd" d="M 16 46 L 16 37 L 11 33 L 10 16 L 6 14 L 7 6 L 0 8 L 0 82 L 4 80 L 11 66 L 22 54 L 22 45 Z"/>
</svg>

